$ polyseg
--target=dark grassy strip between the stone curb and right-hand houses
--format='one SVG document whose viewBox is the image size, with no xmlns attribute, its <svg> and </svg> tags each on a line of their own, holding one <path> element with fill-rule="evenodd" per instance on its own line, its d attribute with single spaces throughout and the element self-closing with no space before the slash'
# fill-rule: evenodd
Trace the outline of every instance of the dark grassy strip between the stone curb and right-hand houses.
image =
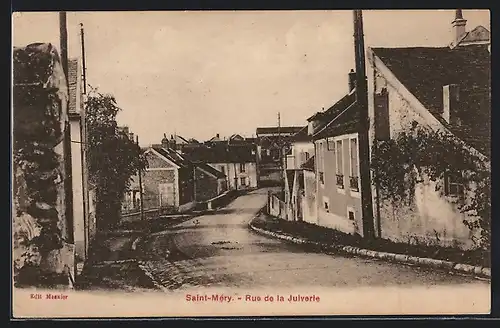
<svg viewBox="0 0 500 328">
<path fill-rule="evenodd" d="M 446 260 L 455 263 L 491 267 L 490 252 L 485 250 L 463 251 L 451 247 L 397 243 L 387 239 L 368 241 L 359 235 L 346 234 L 334 229 L 320 227 L 306 222 L 285 221 L 264 214 L 255 218 L 252 224 L 257 228 L 264 230 L 281 232 L 331 245 L 355 246 L 381 252 L 405 254 L 416 257 Z"/>
</svg>

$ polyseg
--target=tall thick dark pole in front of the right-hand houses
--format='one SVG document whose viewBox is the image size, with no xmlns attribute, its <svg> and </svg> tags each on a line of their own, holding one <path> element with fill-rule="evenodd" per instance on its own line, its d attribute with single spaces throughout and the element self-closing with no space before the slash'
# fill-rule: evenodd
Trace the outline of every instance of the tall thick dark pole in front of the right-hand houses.
<svg viewBox="0 0 500 328">
<path fill-rule="evenodd" d="M 368 130 L 368 83 L 365 71 L 365 46 L 363 33 L 363 14 L 361 10 L 353 10 L 354 18 L 354 51 L 356 61 L 356 102 L 360 111 L 359 126 L 359 163 L 361 178 L 361 203 L 363 215 L 363 236 L 374 237 L 373 207 L 370 174 L 370 144 Z"/>
</svg>

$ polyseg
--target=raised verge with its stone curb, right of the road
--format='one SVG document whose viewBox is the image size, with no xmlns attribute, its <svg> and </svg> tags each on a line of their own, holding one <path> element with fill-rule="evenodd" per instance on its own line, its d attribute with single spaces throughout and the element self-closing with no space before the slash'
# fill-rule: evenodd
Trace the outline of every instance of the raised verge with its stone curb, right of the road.
<svg viewBox="0 0 500 328">
<path fill-rule="evenodd" d="M 306 222 L 285 221 L 263 212 L 250 222 L 249 227 L 257 233 L 319 249 L 326 253 L 372 257 L 482 278 L 491 277 L 490 258 L 485 252 L 417 246 L 394 243 L 384 239 L 370 242 L 360 236 Z"/>
</svg>

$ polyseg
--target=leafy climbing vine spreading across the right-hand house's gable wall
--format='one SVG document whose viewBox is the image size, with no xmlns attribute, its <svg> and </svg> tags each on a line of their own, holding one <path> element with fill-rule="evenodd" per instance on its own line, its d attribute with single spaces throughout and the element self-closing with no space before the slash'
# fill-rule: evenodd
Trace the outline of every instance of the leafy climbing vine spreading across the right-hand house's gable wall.
<svg viewBox="0 0 500 328">
<path fill-rule="evenodd" d="M 480 229 L 480 244 L 490 245 L 491 177 L 489 164 L 479 154 L 466 149 L 454 136 L 431 131 L 414 123 L 408 132 L 395 139 L 377 141 L 372 150 L 373 183 L 380 189 L 382 200 L 393 204 L 413 201 L 415 186 L 425 177 L 436 182 L 443 192 L 445 174 L 459 173 L 466 199 L 459 200 L 459 210 L 467 214 L 464 224 Z"/>
</svg>

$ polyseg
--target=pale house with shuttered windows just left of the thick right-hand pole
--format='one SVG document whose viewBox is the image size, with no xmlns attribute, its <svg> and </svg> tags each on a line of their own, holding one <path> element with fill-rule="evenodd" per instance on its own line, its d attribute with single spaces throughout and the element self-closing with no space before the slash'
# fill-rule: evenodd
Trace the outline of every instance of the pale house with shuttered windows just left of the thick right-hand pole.
<svg viewBox="0 0 500 328">
<path fill-rule="evenodd" d="M 348 77 L 349 93 L 307 120 L 308 134 L 315 146 L 315 165 L 308 163 L 309 170 L 312 167 L 316 170 L 317 221 L 312 223 L 363 235 L 358 146 L 360 109 L 356 103 L 355 72 L 351 70 Z M 307 185 L 311 188 L 314 184 Z"/>
</svg>

